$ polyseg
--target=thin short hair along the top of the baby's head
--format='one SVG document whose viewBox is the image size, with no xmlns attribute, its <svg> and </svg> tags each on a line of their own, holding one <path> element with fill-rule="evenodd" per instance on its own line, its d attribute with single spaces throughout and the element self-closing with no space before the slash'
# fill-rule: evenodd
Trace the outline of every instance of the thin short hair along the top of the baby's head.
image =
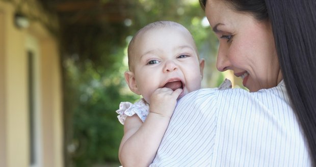
<svg viewBox="0 0 316 167">
<path fill-rule="evenodd" d="M 179 24 L 177 22 L 174 22 L 174 21 L 155 21 L 155 22 L 147 24 L 146 26 L 144 26 L 142 29 L 140 29 L 134 35 L 134 37 L 130 40 L 130 42 L 128 44 L 127 57 L 128 57 L 128 69 L 129 69 L 129 71 L 133 70 L 131 68 L 131 66 L 133 64 L 132 55 L 133 55 L 133 50 L 135 48 L 135 44 L 134 43 L 135 43 L 137 37 L 139 37 L 141 34 L 144 34 L 145 32 L 147 32 L 149 30 L 159 29 L 159 28 L 163 28 L 163 27 L 179 27 L 182 30 L 186 30 L 191 35 L 189 30 L 185 26 L 183 26 L 183 25 L 181 25 L 181 24 Z"/>
</svg>

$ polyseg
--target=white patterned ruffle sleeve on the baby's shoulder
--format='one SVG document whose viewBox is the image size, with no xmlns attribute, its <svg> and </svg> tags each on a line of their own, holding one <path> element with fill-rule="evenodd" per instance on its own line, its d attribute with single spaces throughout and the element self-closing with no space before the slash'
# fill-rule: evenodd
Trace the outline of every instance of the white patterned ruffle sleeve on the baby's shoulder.
<svg viewBox="0 0 316 167">
<path fill-rule="evenodd" d="M 147 118 L 148 112 L 149 104 L 144 99 L 141 99 L 134 104 L 130 102 L 121 102 L 119 109 L 116 110 L 116 113 L 119 114 L 117 118 L 123 125 L 126 117 L 131 117 L 134 114 L 137 114 L 142 122 L 144 122 Z"/>
</svg>

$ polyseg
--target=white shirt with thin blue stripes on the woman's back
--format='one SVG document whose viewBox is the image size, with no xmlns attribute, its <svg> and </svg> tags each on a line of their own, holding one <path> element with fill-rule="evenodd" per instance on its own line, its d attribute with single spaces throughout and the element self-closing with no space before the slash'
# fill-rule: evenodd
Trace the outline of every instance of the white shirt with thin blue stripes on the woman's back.
<svg viewBox="0 0 316 167">
<path fill-rule="evenodd" d="M 178 101 L 150 166 L 311 166 L 284 82 L 201 89 Z"/>
</svg>

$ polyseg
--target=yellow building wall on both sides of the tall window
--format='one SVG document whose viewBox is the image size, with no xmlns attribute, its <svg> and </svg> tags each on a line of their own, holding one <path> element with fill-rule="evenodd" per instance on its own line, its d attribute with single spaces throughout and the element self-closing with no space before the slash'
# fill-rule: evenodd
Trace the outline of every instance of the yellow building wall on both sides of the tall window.
<svg viewBox="0 0 316 167">
<path fill-rule="evenodd" d="M 36 8 L 34 8 L 36 9 Z M 40 166 L 63 166 L 61 67 L 58 43 L 43 26 L 13 24 L 15 7 L 0 1 L 0 166 L 30 166 L 27 38 L 39 44 Z"/>
</svg>

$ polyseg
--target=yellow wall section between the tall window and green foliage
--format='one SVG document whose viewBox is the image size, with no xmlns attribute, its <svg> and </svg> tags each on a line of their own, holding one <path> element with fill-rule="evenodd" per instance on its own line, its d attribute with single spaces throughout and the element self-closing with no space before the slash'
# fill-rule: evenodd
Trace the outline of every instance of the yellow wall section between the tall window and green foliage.
<svg viewBox="0 0 316 167">
<path fill-rule="evenodd" d="M 58 55 L 58 46 L 49 39 L 41 40 L 40 71 L 41 76 L 41 96 L 42 98 L 42 122 L 43 122 L 43 158 L 45 166 L 61 166 L 62 161 L 62 110 L 61 105 L 61 67 Z M 55 89 L 52 89 L 55 88 Z M 58 89 L 57 89 L 58 88 Z M 54 143 L 55 145 L 52 145 Z M 49 165 L 48 165 L 49 164 Z"/>
</svg>

